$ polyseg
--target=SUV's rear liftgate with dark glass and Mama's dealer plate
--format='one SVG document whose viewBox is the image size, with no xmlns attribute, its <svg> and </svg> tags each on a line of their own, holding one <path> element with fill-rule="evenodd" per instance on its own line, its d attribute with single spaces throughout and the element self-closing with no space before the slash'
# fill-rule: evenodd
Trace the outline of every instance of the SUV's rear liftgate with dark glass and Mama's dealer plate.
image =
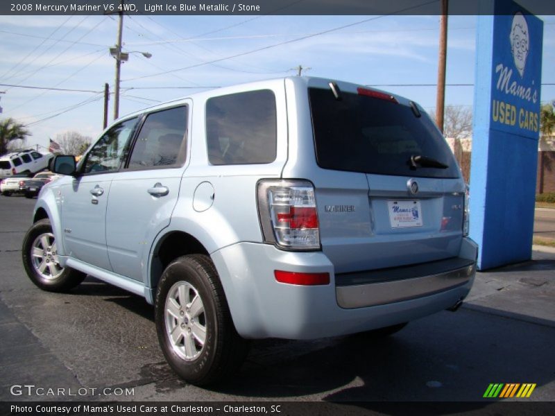
<svg viewBox="0 0 555 416">
<path fill-rule="evenodd" d="M 455 257 L 464 184 L 441 133 L 414 103 L 338 87 L 339 99 L 309 88 L 321 242 L 336 272 Z"/>
</svg>

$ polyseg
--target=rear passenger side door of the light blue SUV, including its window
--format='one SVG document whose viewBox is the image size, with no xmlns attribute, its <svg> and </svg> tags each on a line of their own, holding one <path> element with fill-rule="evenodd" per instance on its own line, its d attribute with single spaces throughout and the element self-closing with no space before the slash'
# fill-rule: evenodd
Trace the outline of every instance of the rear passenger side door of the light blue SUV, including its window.
<svg viewBox="0 0 555 416">
<path fill-rule="evenodd" d="M 146 114 L 126 166 L 112 181 L 106 239 L 119 275 L 142 280 L 149 243 L 169 225 L 187 155 L 189 108 Z"/>
</svg>

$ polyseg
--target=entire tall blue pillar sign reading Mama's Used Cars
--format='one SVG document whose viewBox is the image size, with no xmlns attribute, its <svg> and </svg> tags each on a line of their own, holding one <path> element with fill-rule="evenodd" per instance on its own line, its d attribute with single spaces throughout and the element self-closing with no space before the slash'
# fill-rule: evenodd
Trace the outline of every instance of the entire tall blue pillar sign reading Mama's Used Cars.
<svg viewBox="0 0 555 416">
<path fill-rule="evenodd" d="M 470 237 L 485 270 L 531 258 L 543 21 L 481 0 L 470 172 Z"/>
</svg>

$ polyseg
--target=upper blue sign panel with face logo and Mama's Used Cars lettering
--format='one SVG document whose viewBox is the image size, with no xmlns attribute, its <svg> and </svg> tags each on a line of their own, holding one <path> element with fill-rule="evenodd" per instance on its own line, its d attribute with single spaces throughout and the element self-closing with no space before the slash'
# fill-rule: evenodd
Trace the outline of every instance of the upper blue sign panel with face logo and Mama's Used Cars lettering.
<svg viewBox="0 0 555 416">
<path fill-rule="evenodd" d="M 537 138 L 543 22 L 512 1 L 495 6 L 492 127 Z"/>
</svg>

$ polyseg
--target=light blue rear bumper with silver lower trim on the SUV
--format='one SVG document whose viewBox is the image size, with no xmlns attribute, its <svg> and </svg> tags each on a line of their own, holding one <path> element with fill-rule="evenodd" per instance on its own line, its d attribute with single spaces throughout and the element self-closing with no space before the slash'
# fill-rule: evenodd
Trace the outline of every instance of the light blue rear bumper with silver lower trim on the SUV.
<svg viewBox="0 0 555 416">
<path fill-rule="evenodd" d="M 387 327 L 450 308 L 470 291 L 476 253 L 475 243 L 465 239 L 459 253 L 466 260 L 463 267 L 423 275 L 405 268 L 409 278 L 347 285 L 322 252 L 238 243 L 214 252 L 212 259 L 241 336 L 311 339 Z M 328 272 L 330 284 L 282 284 L 274 270 Z"/>
</svg>

